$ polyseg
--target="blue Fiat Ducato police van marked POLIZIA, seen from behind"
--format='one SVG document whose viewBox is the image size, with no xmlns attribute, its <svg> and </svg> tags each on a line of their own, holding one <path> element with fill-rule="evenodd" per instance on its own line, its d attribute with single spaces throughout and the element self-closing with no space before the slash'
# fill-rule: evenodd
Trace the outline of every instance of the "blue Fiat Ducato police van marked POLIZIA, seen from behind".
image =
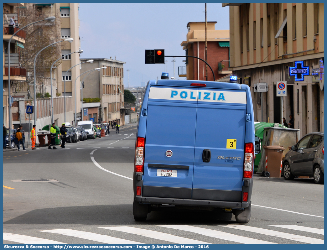
<svg viewBox="0 0 327 250">
<path fill-rule="evenodd" d="M 147 83 L 142 101 L 134 219 L 168 204 L 211 207 L 248 223 L 257 149 L 249 86 L 164 75 Z"/>
</svg>

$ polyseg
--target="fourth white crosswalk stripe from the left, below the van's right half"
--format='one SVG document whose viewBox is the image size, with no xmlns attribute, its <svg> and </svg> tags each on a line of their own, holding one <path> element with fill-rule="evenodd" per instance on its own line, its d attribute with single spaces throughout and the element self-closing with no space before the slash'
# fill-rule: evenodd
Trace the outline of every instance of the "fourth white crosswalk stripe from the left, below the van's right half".
<svg viewBox="0 0 327 250">
<path fill-rule="evenodd" d="M 212 229 L 196 227 L 196 226 L 188 226 L 188 225 L 158 225 L 158 226 L 183 230 L 183 231 L 192 232 L 192 233 L 196 233 L 196 234 L 202 234 L 205 236 L 222 239 L 222 240 L 226 240 L 226 241 L 238 242 L 238 243 L 274 244 L 273 242 L 256 240 L 256 239 L 252 239 L 252 238 L 248 238 L 248 237 L 244 237 L 244 236 L 238 236 L 235 234 L 230 234 L 230 233 L 226 233 L 226 232 L 222 232 L 222 231 L 218 231 L 218 230 L 212 230 Z"/>
</svg>

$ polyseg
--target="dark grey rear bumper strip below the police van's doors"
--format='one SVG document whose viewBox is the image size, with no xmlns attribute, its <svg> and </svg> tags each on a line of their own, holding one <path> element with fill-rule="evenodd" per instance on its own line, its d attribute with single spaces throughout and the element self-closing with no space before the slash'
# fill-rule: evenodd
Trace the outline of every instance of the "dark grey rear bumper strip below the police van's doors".
<svg viewBox="0 0 327 250">
<path fill-rule="evenodd" d="M 221 208 L 245 208 L 250 205 L 248 202 L 228 202 L 228 201 L 210 201 L 210 200 L 193 200 L 193 199 L 172 199 L 156 198 L 145 196 L 134 196 L 135 201 L 145 204 L 170 204 L 170 205 L 190 205 L 190 206 L 213 206 Z"/>
</svg>

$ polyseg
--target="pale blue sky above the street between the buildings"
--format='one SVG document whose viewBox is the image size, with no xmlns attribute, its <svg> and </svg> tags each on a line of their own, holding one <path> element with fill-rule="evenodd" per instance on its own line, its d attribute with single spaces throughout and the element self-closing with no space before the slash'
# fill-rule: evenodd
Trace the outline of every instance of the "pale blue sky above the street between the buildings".
<svg viewBox="0 0 327 250">
<path fill-rule="evenodd" d="M 172 57 L 166 64 L 145 64 L 146 49 L 164 49 L 165 55 L 183 56 L 181 42 L 186 41 L 187 23 L 205 21 L 204 3 L 114 4 L 80 3 L 79 36 L 81 58 L 112 57 L 124 64 L 124 87 L 145 86 L 162 72 L 174 76 Z M 216 21 L 215 29 L 229 29 L 229 7 L 207 3 L 207 22 Z M 185 58 L 175 58 L 175 77 Z M 143 82 L 143 84 L 142 84 Z M 142 85 L 141 85 L 142 84 Z"/>
</svg>

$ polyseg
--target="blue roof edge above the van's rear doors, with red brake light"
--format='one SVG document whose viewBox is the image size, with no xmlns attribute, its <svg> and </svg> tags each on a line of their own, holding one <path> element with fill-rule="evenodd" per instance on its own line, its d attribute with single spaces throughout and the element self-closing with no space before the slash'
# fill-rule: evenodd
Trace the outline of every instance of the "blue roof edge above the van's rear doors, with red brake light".
<svg viewBox="0 0 327 250">
<path fill-rule="evenodd" d="M 191 86 L 192 83 L 205 84 L 205 86 Z M 201 88 L 218 88 L 218 89 L 243 89 L 242 84 L 219 81 L 198 81 L 198 80 L 150 80 L 149 85 L 162 86 L 181 86 L 181 87 L 201 87 Z"/>
</svg>

